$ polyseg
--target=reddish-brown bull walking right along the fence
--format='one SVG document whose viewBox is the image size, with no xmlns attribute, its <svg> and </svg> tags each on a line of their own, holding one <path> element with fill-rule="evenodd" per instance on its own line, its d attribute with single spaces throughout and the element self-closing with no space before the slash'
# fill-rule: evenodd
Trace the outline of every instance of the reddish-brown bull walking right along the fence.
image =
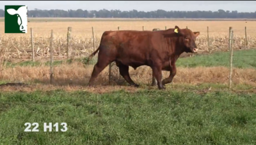
<svg viewBox="0 0 256 145">
<path fill-rule="evenodd" d="M 180 54 L 197 52 L 195 40 L 199 34 L 190 29 L 180 29 L 177 25 L 165 31 L 105 31 L 99 48 L 88 57 L 89 61 L 99 52 L 88 85 L 92 86 L 99 73 L 115 61 L 121 76 L 129 85 L 139 86 L 132 81 L 129 66 L 134 70 L 149 66 L 159 90 L 165 89 L 164 85 L 171 83 L 177 72 L 175 62 Z M 170 71 L 168 78 L 163 81 L 162 70 Z"/>
</svg>

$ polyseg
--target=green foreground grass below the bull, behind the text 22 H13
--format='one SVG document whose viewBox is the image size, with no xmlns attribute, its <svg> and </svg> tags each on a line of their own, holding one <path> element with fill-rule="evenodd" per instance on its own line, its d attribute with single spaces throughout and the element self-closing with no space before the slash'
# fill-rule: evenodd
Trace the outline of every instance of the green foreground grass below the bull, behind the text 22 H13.
<svg viewBox="0 0 256 145">
<path fill-rule="evenodd" d="M 256 95 L 1 92 L 0 122 L 0 144 L 255 144 Z M 24 132 L 26 122 L 40 132 Z M 44 122 L 68 130 L 43 132 Z"/>
</svg>

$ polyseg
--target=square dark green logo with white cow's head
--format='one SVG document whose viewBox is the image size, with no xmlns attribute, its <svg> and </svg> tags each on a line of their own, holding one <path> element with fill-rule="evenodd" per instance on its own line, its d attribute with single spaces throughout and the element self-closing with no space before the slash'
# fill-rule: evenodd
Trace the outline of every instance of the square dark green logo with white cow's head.
<svg viewBox="0 0 256 145">
<path fill-rule="evenodd" d="M 4 32 L 28 32 L 28 6 L 4 6 Z"/>
</svg>

